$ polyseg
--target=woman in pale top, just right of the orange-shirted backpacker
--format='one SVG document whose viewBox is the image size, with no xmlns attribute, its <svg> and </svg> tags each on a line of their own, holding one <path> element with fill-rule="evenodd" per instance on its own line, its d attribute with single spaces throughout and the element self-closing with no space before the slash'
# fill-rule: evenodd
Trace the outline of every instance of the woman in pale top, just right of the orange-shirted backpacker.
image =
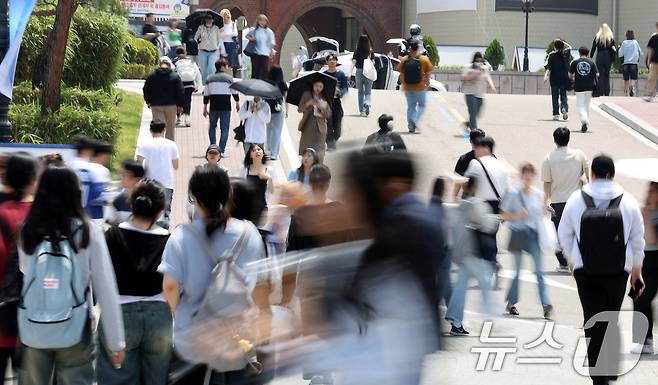
<svg viewBox="0 0 658 385">
<path fill-rule="evenodd" d="M 466 98 L 466 107 L 468 108 L 468 122 L 466 128 L 474 130 L 478 128 L 477 118 L 484 104 L 484 95 L 487 93 L 487 86 L 495 93 L 496 86 L 491 80 L 489 70 L 484 65 L 484 56 L 481 52 L 473 55 L 472 63 L 466 67 L 462 73 L 462 92 Z"/>
</svg>

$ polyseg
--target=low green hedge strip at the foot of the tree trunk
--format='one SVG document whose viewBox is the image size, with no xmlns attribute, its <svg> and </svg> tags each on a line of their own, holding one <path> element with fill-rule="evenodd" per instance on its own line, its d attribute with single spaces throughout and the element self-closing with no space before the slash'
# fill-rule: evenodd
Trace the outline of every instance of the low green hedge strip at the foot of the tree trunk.
<svg viewBox="0 0 658 385">
<path fill-rule="evenodd" d="M 113 143 L 120 131 L 114 110 L 88 110 L 69 104 L 45 117 L 40 115 L 38 104 L 12 104 L 9 120 L 16 143 L 71 143 L 77 134 Z"/>
</svg>

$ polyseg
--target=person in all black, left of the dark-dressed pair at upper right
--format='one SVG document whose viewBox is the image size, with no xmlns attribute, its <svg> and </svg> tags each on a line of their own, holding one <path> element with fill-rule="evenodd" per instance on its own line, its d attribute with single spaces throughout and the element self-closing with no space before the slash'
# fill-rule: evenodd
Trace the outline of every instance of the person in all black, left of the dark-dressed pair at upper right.
<svg viewBox="0 0 658 385">
<path fill-rule="evenodd" d="M 553 101 L 553 120 L 569 119 L 569 102 L 567 100 L 567 88 L 569 79 L 569 57 L 571 46 L 566 42 L 555 39 L 553 42 L 555 49 L 548 54 L 546 59 L 546 72 L 544 73 L 544 83 L 550 79 L 551 98 Z"/>
</svg>

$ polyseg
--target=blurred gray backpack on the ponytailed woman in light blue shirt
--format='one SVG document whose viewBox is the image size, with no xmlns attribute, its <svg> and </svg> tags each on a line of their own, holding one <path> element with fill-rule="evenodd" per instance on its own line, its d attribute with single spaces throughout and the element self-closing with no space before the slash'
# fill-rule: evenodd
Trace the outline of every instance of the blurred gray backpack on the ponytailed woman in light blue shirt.
<svg viewBox="0 0 658 385">
<path fill-rule="evenodd" d="M 249 229 L 242 230 L 232 248 L 218 252 L 194 225 L 185 228 L 203 245 L 215 267 L 199 311 L 192 317 L 192 326 L 185 331 L 186 345 L 191 348 L 187 352 L 181 349 L 179 354 L 220 372 L 241 370 L 247 365 L 259 371 L 262 366 L 256 361 L 255 350 L 245 347 L 256 342 L 258 332 L 251 321 L 258 316 L 258 308 L 245 273 L 235 264 L 249 239 Z"/>
</svg>

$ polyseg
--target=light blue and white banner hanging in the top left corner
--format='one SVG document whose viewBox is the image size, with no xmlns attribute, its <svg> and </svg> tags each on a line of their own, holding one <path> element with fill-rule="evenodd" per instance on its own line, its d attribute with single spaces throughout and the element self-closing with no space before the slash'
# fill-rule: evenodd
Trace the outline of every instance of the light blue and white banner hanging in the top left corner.
<svg viewBox="0 0 658 385">
<path fill-rule="evenodd" d="M 27 22 L 37 0 L 9 0 L 9 50 L 0 63 L 0 94 L 9 99 L 14 87 L 16 60 L 21 49 L 21 40 Z"/>
</svg>

